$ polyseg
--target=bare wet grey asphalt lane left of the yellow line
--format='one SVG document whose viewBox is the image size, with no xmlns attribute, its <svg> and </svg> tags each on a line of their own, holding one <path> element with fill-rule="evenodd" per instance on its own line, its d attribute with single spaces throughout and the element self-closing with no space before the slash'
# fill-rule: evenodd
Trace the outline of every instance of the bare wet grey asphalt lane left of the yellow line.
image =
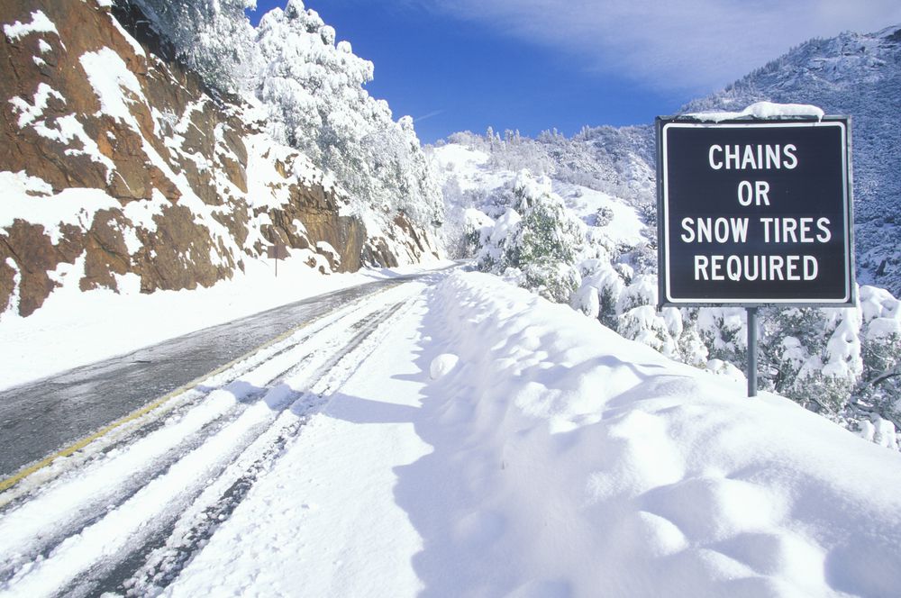
<svg viewBox="0 0 901 598">
<path fill-rule="evenodd" d="M 0 391 L 0 479 L 401 276 L 310 297 Z"/>
</svg>

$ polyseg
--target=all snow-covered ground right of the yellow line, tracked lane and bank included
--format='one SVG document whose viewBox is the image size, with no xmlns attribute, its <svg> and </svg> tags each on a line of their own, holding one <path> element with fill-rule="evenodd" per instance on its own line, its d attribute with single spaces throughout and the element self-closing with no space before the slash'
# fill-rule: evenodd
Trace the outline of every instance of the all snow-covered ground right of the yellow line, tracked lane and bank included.
<svg viewBox="0 0 901 598">
<path fill-rule="evenodd" d="M 0 593 L 897 595 L 901 456 L 494 277 L 435 277 L 16 486 Z"/>
</svg>

